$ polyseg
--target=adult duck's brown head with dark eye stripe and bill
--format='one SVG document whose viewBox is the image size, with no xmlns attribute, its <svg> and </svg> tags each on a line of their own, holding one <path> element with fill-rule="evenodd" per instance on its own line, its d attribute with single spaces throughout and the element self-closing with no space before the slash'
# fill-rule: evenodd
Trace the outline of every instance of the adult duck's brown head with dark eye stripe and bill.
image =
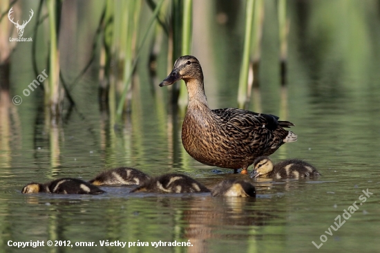
<svg viewBox="0 0 380 253">
<path fill-rule="evenodd" d="M 201 79 L 203 82 L 202 68 L 196 57 L 192 55 L 179 57 L 174 63 L 173 71 L 161 82 L 160 87 L 174 84 L 180 79 L 184 82 L 190 79 Z"/>
</svg>

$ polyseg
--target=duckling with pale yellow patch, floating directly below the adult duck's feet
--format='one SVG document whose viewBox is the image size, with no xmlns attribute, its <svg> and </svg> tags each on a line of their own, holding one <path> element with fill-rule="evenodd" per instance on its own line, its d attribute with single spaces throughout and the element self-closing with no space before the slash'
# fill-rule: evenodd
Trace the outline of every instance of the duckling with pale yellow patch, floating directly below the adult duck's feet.
<svg viewBox="0 0 380 253">
<path fill-rule="evenodd" d="M 211 195 L 214 197 L 256 197 L 256 189 L 248 180 L 228 179 L 213 187 Z"/>
</svg>

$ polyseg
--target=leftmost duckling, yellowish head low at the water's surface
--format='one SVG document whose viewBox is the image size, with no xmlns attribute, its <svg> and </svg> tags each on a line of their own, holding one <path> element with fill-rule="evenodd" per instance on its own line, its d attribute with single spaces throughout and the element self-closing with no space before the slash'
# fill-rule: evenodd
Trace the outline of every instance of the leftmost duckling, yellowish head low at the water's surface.
<svg viewBox="0 0 380 253">
<path fill-rule="evenodd" d="M 45 184 L 31 182 L 24 186 L 21 191 L 23 194 L 36 194 L 38 192 L 49 194 L 103 194 L 105 191 L 77 178 L 60 178 Z"/>
</svg>

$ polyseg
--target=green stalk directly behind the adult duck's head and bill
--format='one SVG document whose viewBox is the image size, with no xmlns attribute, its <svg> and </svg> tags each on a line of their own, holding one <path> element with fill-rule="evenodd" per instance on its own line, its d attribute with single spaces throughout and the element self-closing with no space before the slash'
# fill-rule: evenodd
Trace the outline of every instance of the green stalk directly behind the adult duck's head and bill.
<svg viewBox="0 0 380 253">
<path fill-rule="evenodd" d="M 182 19 L 182 51 L 181 55 L 191 54 L 192 39 L 192 22 L 193 22 L 193 0 L 183 1 L 183 19 Z M 180 86 L 180 97 L 178 104 L 181 111 L 187 106 L 187 88 L 185 85 Z"/>
</svg>

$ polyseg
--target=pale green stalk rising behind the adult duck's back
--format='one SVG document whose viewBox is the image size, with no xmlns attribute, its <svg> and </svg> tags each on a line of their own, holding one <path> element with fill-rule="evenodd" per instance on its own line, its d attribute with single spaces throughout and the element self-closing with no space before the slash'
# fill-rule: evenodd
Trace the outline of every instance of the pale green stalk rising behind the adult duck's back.
<svg viewBox="0 0 380 253">
<path fill-rule="evenodd" d="M 243 58 L 240 66 L 239 89 L 238 89 L 238 107 L 245 108 L 247 105 L 247 87 L 249 72 L 249 55 L 251 53 L 251 38 L 254 19 L 254 2 L 255 0 L 247 0 L 247 8 L 245 12 L 245 39 Z"/>
</svg>

